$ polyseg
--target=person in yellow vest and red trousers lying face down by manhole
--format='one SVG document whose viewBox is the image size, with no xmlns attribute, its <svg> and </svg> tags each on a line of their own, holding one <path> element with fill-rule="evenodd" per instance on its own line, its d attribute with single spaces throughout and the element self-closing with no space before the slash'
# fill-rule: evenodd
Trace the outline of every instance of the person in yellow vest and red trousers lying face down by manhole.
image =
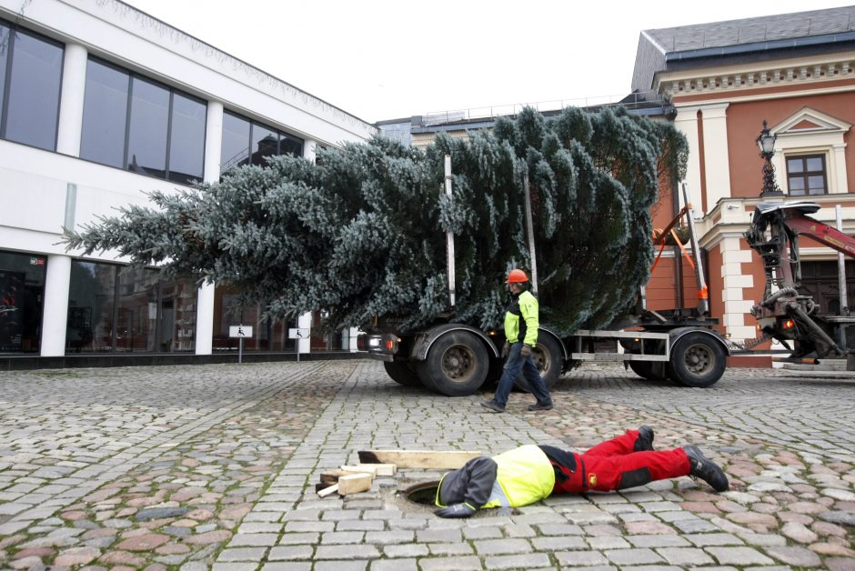
<svg viewBox="0 0 855 571">
<path fill-rule="evenodd" d="M 721 467 L 697 446 L 656 451 L 653 429 L 641 426 L 583 454 L 527 445 L 473 458 L 442 477 L 435 513 L 468 517 L 481 508 L 527 506 L 552 494 L 609 492 L 679 476 L 699 477 L 717 492 L 729 487 Z"/>
</svg>

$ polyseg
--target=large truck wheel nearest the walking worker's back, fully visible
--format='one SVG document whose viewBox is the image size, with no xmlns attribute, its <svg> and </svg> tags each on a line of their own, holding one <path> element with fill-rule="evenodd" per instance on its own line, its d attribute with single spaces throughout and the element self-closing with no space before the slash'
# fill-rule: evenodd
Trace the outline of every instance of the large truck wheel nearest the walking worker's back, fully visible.
<svg viewBox="0 0 855 571">
<path fill-rule="evenodd" d="M 447 396 L 468 396 L 484 384 L 488 368 L 487 349 L 478 337 L 455 331 L 438 338 L 417 370 L 428 388 Z"/>
</svg>

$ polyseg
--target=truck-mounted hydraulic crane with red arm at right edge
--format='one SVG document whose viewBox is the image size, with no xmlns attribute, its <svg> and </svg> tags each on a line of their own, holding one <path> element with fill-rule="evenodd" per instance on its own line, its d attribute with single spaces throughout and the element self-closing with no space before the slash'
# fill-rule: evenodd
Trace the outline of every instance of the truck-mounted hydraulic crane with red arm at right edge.
<svg viewBox="0 0 855 571">
<path fill-rule="evenodd" d="M 745 238 L 763 260 L 763 300 L 751 308 L 763 334 L 793 351 L 791 357 L 843 357 L 846 347 L 833 337 L 834 316 L 824 316 L 811 296 L 799 293 L 799 236 L 807 235 L 838 252 L 855 257 L 855 239 L 809 216 L 820 210 L 813 202 L 760 203 Z M 767 234 L 767 230 L 769 231 Z M 774 289 L 774 291 L 773 291 Z M 797 341 L 793 349 L 788 341 Z"/>
</svg>

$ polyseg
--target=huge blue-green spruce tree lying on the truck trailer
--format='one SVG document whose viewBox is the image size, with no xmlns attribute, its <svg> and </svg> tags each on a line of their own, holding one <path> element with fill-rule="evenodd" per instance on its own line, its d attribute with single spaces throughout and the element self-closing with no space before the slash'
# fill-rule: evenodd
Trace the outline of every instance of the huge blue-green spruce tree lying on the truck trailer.
<svg viewBox="0 0 855 571">
<path fill-rule="evenodd" d="M 525 109 L 469 139 L 438 135 L 425 152 L 375 137 L 323 150 L 317 164 L 270 158 L 217 184 L 153 193 L 152 207 L 128 207 L 65 239 L 86 254 L 116 249 L 168 275 L 234 285 L 269 316 L 325 310 L 330 328 L 399 316 L 407 330 L 450 313 L 499 326 L 508 269 L 530 267 L 528 175 L 541 321 L 567 334 L 607 326 L 647 280 L 650 207 L 660 183 L 684 175 L 687 148 L 672 125 L 620 107 L 568 108 L 551 119 Z"/>
</svg>

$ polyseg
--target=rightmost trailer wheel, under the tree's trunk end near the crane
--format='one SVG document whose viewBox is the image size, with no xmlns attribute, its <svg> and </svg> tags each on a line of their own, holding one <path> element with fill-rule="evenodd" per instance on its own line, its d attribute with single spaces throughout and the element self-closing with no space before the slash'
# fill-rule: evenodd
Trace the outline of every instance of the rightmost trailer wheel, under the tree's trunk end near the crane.
<svg viewBox="0 0 855 571">
<path fill-rule="evenodd" d="M 714 338 L 703 333 L 688 333 L 671 347 L 666 370 L 671 380 L 684 386 L 706 388 L 724 375 L 727 356 Z"/>
</svg>

